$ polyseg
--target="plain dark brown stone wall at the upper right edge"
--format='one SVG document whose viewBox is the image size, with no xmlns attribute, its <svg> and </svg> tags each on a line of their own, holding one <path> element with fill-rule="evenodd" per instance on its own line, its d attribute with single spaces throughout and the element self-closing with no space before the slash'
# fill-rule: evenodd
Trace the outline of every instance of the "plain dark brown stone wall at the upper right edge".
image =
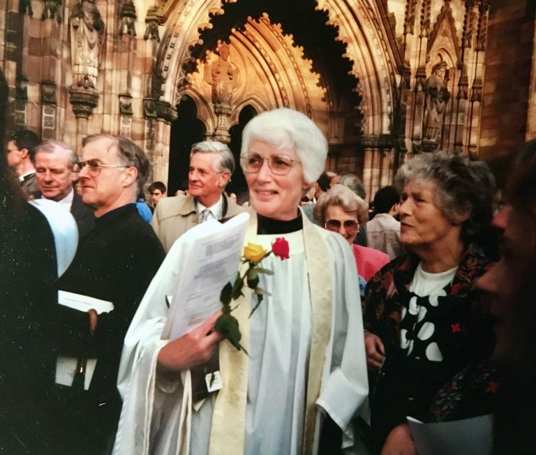
<svg viewBox="0 0 536 455">
<path fill-rule="evenodd" d="M 502 0 L 491 6 L 479 139 L 481 158 L 505 156 L 536 135 L 535 120 L 529 116 L 536 112 L 534 88 L 530 89 L 534 77 L 534 9 L 530 0 Z"/>
</svg>

